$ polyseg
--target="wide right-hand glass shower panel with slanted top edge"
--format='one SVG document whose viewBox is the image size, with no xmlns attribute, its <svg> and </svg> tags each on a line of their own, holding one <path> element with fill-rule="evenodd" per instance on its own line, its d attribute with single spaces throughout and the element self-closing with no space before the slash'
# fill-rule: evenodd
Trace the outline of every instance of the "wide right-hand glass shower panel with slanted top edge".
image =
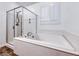
<svg viewBox="0 0 79 59">
<path fill-rule="evenodd" d="M 34 38 L 36 35 L 36 16 L 23 9 L 23 36 Z"/>
</svg>

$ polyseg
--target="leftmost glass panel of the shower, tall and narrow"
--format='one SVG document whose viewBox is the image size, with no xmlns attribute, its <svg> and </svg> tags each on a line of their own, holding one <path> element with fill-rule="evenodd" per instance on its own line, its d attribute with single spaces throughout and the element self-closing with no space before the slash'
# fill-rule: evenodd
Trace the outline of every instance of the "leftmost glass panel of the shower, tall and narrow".
<svg viewBox="0 0 79 59">
<path fill-rule="evenodd" d="M 15 36 L 14 32 L 14 10 L 7 12 L 7 42 L 11 42 Z"/>
</svg>

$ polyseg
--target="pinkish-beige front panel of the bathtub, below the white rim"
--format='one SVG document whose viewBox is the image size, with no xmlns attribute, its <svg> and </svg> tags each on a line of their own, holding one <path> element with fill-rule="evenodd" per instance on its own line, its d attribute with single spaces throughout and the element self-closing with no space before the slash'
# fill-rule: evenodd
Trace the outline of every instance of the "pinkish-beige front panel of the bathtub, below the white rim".
<svg viewBox="0 0 79 59">
<path fill-rule="evenodd" d="M 66 52 L 60 49 L 48 48 L 21 40 L 14 40 L 14 51 L 20 56 L 79 56 L 79 54 Z"/>
</svg>

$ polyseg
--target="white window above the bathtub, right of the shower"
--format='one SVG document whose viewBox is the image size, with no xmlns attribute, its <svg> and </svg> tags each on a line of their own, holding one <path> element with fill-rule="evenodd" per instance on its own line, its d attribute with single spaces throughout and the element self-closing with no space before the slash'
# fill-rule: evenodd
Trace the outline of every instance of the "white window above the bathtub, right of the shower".
<svg viewBox="0 0 79 59">
<path fill-rule="evenodd" d="M 51 25 L 60 23 L 60 5 L 52 3 L 40 7 L 40 24 Z"/>
</svg>

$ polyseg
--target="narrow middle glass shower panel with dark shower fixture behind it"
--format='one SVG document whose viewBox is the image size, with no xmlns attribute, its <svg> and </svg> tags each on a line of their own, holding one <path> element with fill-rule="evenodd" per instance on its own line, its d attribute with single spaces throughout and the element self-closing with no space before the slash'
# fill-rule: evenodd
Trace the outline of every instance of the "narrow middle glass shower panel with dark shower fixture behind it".
<svg viewBox="0 0 79 59">
<path fill-rule="evenodd" d="M 15 37 L 22 36 L 22 8 L 15 10 Z"/>
</svg>

